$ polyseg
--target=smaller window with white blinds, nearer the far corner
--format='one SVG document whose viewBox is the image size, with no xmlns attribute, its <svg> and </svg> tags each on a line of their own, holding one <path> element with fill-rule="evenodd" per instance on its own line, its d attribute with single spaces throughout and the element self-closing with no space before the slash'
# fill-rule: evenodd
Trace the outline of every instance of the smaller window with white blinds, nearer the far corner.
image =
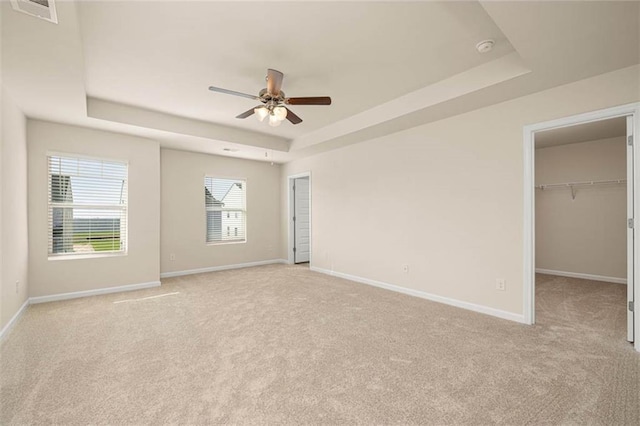
<svg viewBox="0 0 640 426">
<path fill-rule="evenodd" d="M 204 178 L 207 243 L 247 241 L 247 182 Z"/>
</svg>

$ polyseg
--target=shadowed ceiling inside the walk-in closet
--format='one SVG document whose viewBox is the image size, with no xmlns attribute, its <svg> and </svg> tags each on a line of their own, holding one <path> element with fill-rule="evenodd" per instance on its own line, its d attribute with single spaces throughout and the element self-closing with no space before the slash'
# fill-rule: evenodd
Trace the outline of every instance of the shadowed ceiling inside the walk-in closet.
<svg viewBox="0 0 640 426">
<path fill-rule="evenodd" d="M 537 132 L 535 135 L 536 149 L 610 139 L 626 136 L 626 134 L 626 117 L 611 118 L 608 120 L 593 121 L 576 126 Z"/>
</svg>

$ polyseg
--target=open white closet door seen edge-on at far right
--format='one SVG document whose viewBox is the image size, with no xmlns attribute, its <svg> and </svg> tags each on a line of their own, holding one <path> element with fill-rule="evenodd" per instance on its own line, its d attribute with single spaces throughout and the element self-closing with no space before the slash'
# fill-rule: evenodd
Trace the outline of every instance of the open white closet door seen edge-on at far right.
<svg viewBox="0 0 640 426">
<path fill-rule="evenodd" d="M 633 116 L 627 116 L 627 340 L 633 342 L 633 227 L 636 226 L 633 209 Z"/>
</svg>

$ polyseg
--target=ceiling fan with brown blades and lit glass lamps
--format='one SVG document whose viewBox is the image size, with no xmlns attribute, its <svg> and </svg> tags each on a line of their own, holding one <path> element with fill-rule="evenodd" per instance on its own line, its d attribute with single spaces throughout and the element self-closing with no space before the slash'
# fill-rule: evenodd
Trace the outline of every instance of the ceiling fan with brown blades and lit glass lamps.
<svg viewBox="0 0 640 426">
<path fill-rule="evenodd" d="M 266 78 L 267 87 L 262 89 L 260 93 L 258 93 L 258 96 L 214 86 L 209 86 L 209 90 L 213 92 L 226 93 L 228 95 L 242 96 L 243 98 L 254 99 L 262 102 L 263 105 L 251 108 L 250 110 L 237 115 L 236 118 L 247 118 L 255 113 L 260 121 L 269 117 L 269 125 L 273 127 L 279 126 L 285 118 L 292 124 L 302 123 L 302 119 L 285 105 L 331 105 L 331 98 L 329 96 L 287 98 L 284 92 L 280 90 L 283 78 L 284 74 L 280 71 L 268 69 Z"/>
</svg>

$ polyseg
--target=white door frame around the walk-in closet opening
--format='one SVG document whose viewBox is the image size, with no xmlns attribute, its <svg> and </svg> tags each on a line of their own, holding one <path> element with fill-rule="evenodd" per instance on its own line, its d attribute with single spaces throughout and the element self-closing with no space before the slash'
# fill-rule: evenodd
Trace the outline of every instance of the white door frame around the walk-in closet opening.
<svg viewBox="0 0 640 426">
<path fill-rule="evenodd" d="M 609 118 L 633 117 L 633 208 L 634 215 L 640 212 L 640 149 L 638 149 L 638 135 L 640 135 L 640 103 L 621 105 L 556 120 L 545 121 L 523 127 L 524 144 L 524 259 L 523 259 L 523 316 L 525 324 L 535 323 L 535 133 L 542 130 L 558 129 L 562 127 L 574 126 L 593 121 L 601 121 Z M 633 229 L 634 257 L 633 282 L 634 282 L 634 303 L 640 301 L 640 227 Z M 640 314 L 638 309 L 634 311 L 634 334 L 633 343 L 635 349 L 640 352 Z"/>
</svg>

